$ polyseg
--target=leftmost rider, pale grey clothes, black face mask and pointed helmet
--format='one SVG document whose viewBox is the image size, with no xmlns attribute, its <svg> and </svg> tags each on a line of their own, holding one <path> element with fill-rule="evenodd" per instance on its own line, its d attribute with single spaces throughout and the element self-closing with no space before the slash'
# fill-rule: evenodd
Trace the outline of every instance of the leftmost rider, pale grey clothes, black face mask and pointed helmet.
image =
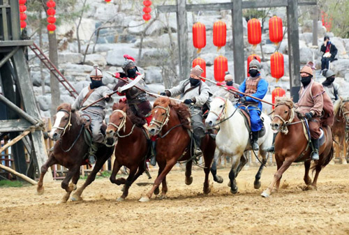
<svg viewBox="0 0 349 235">
<path fill-rule="evenodd" d="M 112 91 L 103 84 L 103 73 L 97 65 L 94 65 L 94 70 L 91 71 L 89 77 L 91 79 L 91 84 L 82 89 L 73 103 L 72 108 L 76 110 L 81 109 L 104 97 L 104 100 L 81 111 L 82 114 L 87 114 L 87 116 L 91 118 L 92 143 L 89 150 L 89 163 L 94 164 L 96 162 L 96 151 L 98 146 L 99 144 L 103 144 L 104 140 L 101 127 L 105 119 L 105 102 L 112 103 L 113 98 L 108 96 Z"/>
</svg>

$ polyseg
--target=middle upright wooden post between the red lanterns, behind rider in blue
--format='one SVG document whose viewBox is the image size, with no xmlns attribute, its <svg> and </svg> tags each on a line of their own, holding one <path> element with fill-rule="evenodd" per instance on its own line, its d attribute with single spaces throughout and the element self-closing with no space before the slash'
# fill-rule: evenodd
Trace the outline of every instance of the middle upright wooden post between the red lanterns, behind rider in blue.
<svg viewBox="0 0 349 235">
<path fill-rule="evenodd" d="M 242 0 L 232 0 L 232 45 L 234 55 L 235 82 L 241 84 L 245 79 L 244 29 L 242 25 Z"/>
</svg>

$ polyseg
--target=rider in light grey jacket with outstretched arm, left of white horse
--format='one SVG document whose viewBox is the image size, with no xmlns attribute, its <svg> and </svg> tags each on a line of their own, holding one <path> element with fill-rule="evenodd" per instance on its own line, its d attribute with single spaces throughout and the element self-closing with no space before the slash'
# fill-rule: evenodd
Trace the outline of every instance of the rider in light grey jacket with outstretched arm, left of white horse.
<svg viewBox="0 0 349 235">
<path fill-rule="evenodd" d="M 178 86 L 172 89 L 165 90 L 160 93 L 161 96 L 178 96 L 181 95 L 181 100 L 186 105 L 191 106 L 191 124 L 193 126 L 193 137 L 196 144 L 194 151 L 195 157 L 198 159 L 202 156 L 200 149 L 201 139 L 205 136 L 205 126 L 202 123 L 202 109 L 205 109 L 211 102 L 211 89 L 205 82 L 202 82 L 200 77 L 204 70 L 200 66 L 195 66 L 191 69 L 189 79 L 184 79 Z"/>
</svg>

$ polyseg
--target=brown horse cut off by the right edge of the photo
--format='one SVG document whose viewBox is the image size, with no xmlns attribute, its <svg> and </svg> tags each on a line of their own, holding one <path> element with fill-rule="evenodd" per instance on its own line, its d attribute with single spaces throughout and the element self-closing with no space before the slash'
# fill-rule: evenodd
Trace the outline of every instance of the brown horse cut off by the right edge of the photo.
<svg viewBox="0 0 349 235">
<path fill-rule="evenodd" d="M 339 139 L 339 147 L 341 151 L 343 151 L 343 147 L 347 146 L 345 144 L 347 142 L 346 135 L 348 135 L 349 130 L 349 98 L 339 100 L 334 103 L 334 123 L 332 126 L 332 133 L 334 137 L 338 137 Z M 348 154 L 348 151 L 347 151 Z M 346 156 L 341 158 L 342 164 L 347 164 Z"/>
</svg>

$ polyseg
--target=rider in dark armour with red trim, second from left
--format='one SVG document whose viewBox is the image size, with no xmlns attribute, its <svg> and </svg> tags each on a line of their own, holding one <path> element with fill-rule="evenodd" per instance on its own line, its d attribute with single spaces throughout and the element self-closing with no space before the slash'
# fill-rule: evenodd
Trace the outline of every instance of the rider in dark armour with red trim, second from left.
<svg viewBox="0 0 349 235">
<path fill-rule="evenodd" d="M 132 56 L 128 56 L 127 54 L 124 55 L 125 62 L 124 66 L 122 66 L 122 70 L 124 70 L 124 73 L 116 73 L 116 77 L 121 77 L 124 79 L 135 79 L 140 73 L 138 73 L 137 65 L 135 64 L 135 59 L 133 59 Z M 117 89 L 121 86 L 126 85 L 126 82 L 119 80 L 117 85 L 114 87 L 114 91 L 117 91 Z M 140 86 L 146 86 L 144 80 L 140 80 L 138 82 L 138 85 Z M 119 93 L 119 96 L 126 96 L 126 102 L 128 104 L 129 109 L 133 112 L 136 119 L 136 124 L 138 126 L 144 126 L 144 129 L 147 130 L 147 126 L 149 126 L 149 123 L 151 121 L 151 104 L 147 98 L 147 94 L 145 91 L 141 91 L 140 89 L 137 89 L 135 86 L 126 89 L 125 91 Z M 154 140 L 154 139 L 152 139 Z M 155 141 L 151 141 L 151 146 L 153 150 L 155 149 Z M 155 154 L 152 154 L 150 159 L 150 164 L 155 166 L 156 165 L 156 156 Z"/>
</svg>

